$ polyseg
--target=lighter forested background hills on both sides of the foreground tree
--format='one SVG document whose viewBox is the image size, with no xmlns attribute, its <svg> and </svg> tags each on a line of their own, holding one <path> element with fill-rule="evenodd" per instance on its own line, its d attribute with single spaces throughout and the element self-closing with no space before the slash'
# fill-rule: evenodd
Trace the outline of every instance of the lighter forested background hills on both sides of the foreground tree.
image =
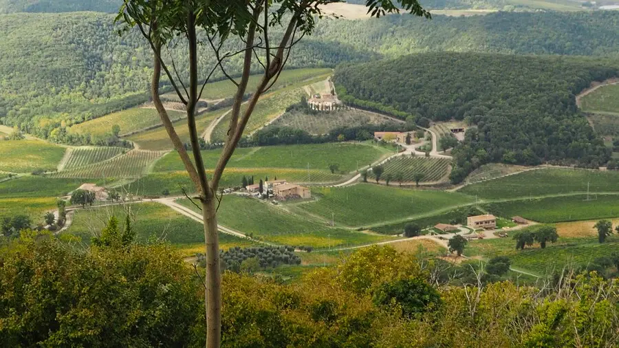
<svg viewBox="0 0 619 348">
<path fill-rule="evenodd" d="M 137 32 L 120 38 L 115 29 L 113 14 L 0 15 L 0 123 L 83 144 L 90 140 L 72 138 L 65 127 L 146 101 L 151 54 Z M 335 67 L 442 50 L 616 55 L 618 31 L 618 12 L 327 19 L 294 49 L 288 67 Z M 180 48 L 168 53 L 186 71 Z M 206 74 L 212 56 L 200 56 Z M 224 66 L 235 74 L 239 65 L 237 57 Z"/>
</svg>

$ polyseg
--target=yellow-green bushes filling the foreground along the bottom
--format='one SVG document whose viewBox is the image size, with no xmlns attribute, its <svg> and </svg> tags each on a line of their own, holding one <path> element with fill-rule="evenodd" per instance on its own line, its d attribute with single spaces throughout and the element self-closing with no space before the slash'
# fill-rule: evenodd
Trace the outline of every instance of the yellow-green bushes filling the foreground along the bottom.
<svg viewBox="0 0 619 348">
<path fill-rule="evenodd" d="M 3 343 L 204 346 L 202 279 L 171 246 L 123 241 L 117 226 L 109 221 L 87 250 L 30 230 L 0 245 Z M 494 283 L 508 259 L 481 267 L 375 246 L 290 285 L 225 272 L 222 345 L 565 347 L 614 339 L 616 282 L 567 272 L 536 291 Z M 446 286 L 457 283 L 466 287 Z"/>
</svg>

